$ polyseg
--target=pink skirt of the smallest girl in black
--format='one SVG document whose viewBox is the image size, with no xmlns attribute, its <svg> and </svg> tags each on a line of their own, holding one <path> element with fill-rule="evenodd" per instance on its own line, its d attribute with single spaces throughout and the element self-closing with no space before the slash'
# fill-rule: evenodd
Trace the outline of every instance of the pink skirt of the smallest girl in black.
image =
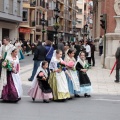
<svg viewBox="0 0 120 120">
<path fill-rule="evenodd" d="M 39 100 L 49 100 L 53 98 L 52 92 L 51 93 L 42 92 L 42 90 L 40 89 L 38 85 L 38 81 L 36 81 L 34 88 L 30 89 L 30 91 L 28 92 L 28 95 L 34 99 L 39 99 Z"/>
</svg>

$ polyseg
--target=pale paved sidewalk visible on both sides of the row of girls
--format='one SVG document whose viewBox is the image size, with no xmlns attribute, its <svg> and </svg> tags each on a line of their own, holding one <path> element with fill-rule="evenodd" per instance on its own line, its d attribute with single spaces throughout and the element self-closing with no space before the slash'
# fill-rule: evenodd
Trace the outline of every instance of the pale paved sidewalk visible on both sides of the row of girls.
<svg viewBox="0 0 120 120">
<path fill-rule="evenodd" d="M 114 83 L 115 80 L 115 71 L 111 76 L 110 70 L 103 69 L 101 65 L 100 56 L 98 53 L 95 54 L 96 66 L 92 67 L 88 71 L 88 76 L 90 77 L 93 91 L 92 94 L 95 95 L 120 95 L 120 84 Z M 28 59 L 28 60 L 27 60 Z M 29 60 L 31 59 L 31 60 Z M 21 67 L 21 79 L 23 85 L 31 86 L 32 82 L 28 81 L 28 78 L 31 76 L 33 61 L 28 57 L 23 61 L 25 65 Z M 26 65 L 26 62 L 29 62 L 29 65 Z"/>
</svg>

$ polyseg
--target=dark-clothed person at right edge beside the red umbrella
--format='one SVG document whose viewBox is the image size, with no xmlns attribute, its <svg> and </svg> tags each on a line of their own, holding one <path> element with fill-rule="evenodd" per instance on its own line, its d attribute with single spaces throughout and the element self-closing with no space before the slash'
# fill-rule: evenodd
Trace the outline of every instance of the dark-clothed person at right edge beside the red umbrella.
<svg viewBox="0 0 120 120">
<path fill-rule="evenodd" d="M 115 54 L 117 65 L 116 65 L 116 83 L 120 82 L 120 46 L 117 48 L 116 54 Z"/>
</svg>

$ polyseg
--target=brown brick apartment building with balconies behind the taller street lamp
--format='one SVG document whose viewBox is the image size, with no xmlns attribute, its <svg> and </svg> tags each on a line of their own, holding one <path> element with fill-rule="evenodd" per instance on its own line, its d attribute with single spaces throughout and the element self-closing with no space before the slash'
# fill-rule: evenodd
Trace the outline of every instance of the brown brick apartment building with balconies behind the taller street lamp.
<svg viewBox="0 0 120 120">
<path fill-rule="evenodd" d="M 60 28 L 58 30 L 58 37 L 63 37 L 65 41 L 71 39 L 74 36 L 73 26 L 76 25 L 76 0 L 57 0 L 59 4 L 59 19 Z M 56 0 L 49 0 L 48 11 L 48 31 L 54 36 L 54 9 L 56 6 Z"/>
</svg>

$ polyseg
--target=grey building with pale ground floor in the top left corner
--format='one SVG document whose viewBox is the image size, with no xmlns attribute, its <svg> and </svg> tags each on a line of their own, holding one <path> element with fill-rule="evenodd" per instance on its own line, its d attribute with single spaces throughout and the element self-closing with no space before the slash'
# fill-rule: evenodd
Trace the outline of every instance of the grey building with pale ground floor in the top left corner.
<svg viewBox="0 0 120 120">
<path fill-rule="evenodd" d="M 14 42 L 21 21 L 22 0 L 0 0 L 0 40 L 8 36 Z"/>
</svg>

